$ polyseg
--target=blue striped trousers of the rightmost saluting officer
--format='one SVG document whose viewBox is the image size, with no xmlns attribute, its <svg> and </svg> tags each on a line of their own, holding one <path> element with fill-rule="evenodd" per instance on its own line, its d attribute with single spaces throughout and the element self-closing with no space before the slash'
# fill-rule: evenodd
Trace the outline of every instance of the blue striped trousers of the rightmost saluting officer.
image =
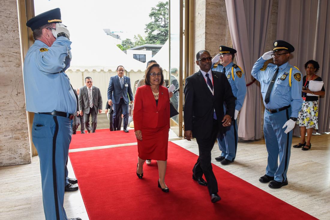
<svg viewBox="0 0 330 220">
<path fill-rule="evenodd" d="M 264 136 L 268 152 L 266 175 L 274 176 L 274 180 L 278 182 L 285 181 L 289 166 L 293 131 L 285 134 L 286 127 L 282 127 L 290 119 L 290 115 L 291 108 L 276 113 L 265 110 L 264 113 Z"/>
</svg>

